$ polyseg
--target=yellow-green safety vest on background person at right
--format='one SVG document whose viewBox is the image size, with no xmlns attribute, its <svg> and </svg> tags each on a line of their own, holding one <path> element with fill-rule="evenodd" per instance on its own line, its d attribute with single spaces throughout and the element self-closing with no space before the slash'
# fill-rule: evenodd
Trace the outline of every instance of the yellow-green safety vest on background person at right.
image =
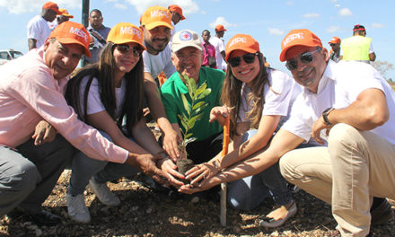
<svg viewBox="0 0 395 237">
<path fill-rule="evenodd" d="M 341 41 L 343 60 L 346 61 L 370 61 L 369 46 L 372 39 L 360 35 Z"/>
</svg>

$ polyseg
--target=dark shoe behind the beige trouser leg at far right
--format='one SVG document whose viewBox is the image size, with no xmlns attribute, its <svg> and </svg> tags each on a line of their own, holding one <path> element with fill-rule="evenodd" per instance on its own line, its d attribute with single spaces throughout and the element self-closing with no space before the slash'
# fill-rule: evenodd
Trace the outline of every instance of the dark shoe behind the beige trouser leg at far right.
<svg viewBox="0 0 395 237">
<path fill-rule="evenodd" d="M 386 198 L 373 198 L 370 213 L 372 225 L 384 224 L 393 216 L 391 205 Z"/>
</svg>

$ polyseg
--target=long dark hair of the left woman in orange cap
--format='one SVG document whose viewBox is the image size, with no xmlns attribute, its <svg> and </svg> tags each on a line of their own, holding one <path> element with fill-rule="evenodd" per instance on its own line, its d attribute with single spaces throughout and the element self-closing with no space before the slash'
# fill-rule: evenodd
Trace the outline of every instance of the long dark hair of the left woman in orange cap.
<svg viewBox="0 0 395 237">
<path fill-rule="evenodd" d="M 125 101 L 121 110 L 119 119 L 116 118 L 116 97 L 115 97 L 115 61 L 113 57 L 115 44 L 108 42 L 101 50 L 99 62 L 83 67 L 67 84 L 66 101 L 75 109 L 78 117 L 86 121 L 86 111 L 88 102 L 88 93 L 91 88 L 93 78 L 99 82 L 99 92 L 101 103 L 103 104 L 110 117 L 117 121 L 118 127 L 122 125 L 122 118 L 127 117 L 127 132 L 130 134 L 132 127 L 143 117 L 143 100 L 144 100 L 144 64 L 143 57 L 140 57 L 136 66 L 127 74 Z M 83 98 L 80 98 L 80 87 L 83 77 L 90 75 L 83 92 Z M 80 101 L 83 100 L 83 108 Z"/>
</svg>

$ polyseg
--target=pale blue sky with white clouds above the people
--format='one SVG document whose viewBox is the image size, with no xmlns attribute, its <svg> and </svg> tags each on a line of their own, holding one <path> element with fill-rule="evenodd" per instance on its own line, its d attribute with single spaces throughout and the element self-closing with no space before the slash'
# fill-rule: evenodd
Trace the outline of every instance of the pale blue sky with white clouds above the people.
<svg viewBox="0 0 395 237">
<path fill-rule="evenodd" d="M 45 0 L 0 0 L 0 49 L 28 51 L 26 25 L 40 14 Z M 82 0 L 53 0 L 82 22 Z M 215 25 L 227 30 L 224 42 L 237 33 L 250 34 L 259 41 L 261 52 L 271 66 L 289 74 L 280 62 L 281 41 L 294 29 L 309 29 L 323 46 L 333 36 L 346 39 L 352 36 L 355 24 L 363 24 L 366 36 L 373 39 L 376 61 L 395 66 L 395 18 L 393 0 L 91 0 L 90 9 L 103 13 L 103 24 L 112 27 L 118 22 L 139 24 L 145 9 L 155 4 L 167 7 L 178 4 L 187 18 L 176 25 L 176 31 L 189 29 L 201 34 L 203 30 L 215 35 Z M 392 22 L 392 23 L 391 23 Z M 329 48 L 330 49 L 330 48 Z M 395 80 L 395 70 L 387 74 Z"/>
</svg>

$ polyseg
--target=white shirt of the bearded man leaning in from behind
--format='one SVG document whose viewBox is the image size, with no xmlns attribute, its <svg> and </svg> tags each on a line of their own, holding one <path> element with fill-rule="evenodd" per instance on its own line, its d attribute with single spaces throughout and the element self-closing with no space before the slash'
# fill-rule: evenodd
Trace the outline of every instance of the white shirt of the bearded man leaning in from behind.
<svg viewBox="0 0 395 237">
<path fill-rule="evenodd" d="M 144 50 L 143 61 L 144 72 L 151 73 L 154 79 L 158 77 L 162 71 L 167 78 L 176 71 L 176 68 L 171 63 L 171 48 L 169 45 L 157 55 L 150 54 L 147 50 Z"/>
</svg>

